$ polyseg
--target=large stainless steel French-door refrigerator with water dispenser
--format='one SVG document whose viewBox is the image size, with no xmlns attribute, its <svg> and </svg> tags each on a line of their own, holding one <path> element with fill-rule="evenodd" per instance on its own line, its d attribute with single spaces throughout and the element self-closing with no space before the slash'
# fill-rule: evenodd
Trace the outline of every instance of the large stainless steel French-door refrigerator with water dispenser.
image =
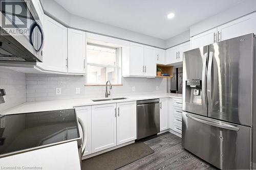
<svg viewBox="0 0 256 170">
<path fill-rule="evenodd" d="M 254 60 L 254 34 L 183 54 L 182 146 L 220 169 L 256 168 Z"/>
</svg>

